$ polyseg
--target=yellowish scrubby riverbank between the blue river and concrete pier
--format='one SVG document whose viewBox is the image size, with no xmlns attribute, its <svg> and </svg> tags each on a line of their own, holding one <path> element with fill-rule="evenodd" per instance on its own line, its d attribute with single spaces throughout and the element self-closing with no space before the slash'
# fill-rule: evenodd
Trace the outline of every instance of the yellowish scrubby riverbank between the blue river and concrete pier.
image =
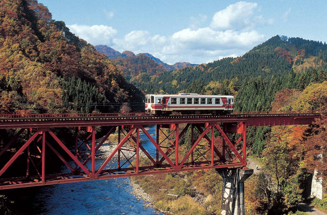
<svg viewBox="0 0 327 215">
<path fill-rule="evenodd" d="M 160 210 L 174 214 L 220 214 L 222 180 L 215 170 L 138 176 L 132 180 L 153 197 L 153 204 Z M 196 193 L 206 196 L 204 206 L 192 198 Z"/>
</svg>

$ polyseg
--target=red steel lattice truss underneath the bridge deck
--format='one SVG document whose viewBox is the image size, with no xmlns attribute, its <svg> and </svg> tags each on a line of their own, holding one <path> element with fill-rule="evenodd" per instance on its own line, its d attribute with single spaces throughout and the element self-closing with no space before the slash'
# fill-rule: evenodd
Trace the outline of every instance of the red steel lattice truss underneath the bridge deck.
<svg viewBox="0 0 327 215">
<path fill-rule="evenodd" d="M 17 152 L 9 159 L 9 161 L 3 166 L 0 166 L 0 189 L 8 188 L 17 188 L 17 187 L 27 187 L 27 186 L 39 186 L 47 184 L 58 184 L 58 183 L 70 183 L 78 181 L 87 181 L 95 179 L 108 179 L 108 178 L 120 178 L 120 177 L 129 177 L 136 175 L 149 175 L 149 174 L 158 174 L 158 173 L 171 173 L 179 171 L 192 171 L 192 170 L 201 170 L 201 169 L 212 169 L 212 168 L 231 168 L 231 167 L 242 167 L 246 165 L 246 124 L 245 122 L 237 122 L 238 126 L 242 128 L 242 136 L 236 141 L 232 142 L 226 131 L 221 128 L 218 123 L 208 123 L 208 124 L 186 124 L 183 127 L 182 131 L 179 132 L 179 124 L 174 124 L 173 131 L 166 135 L 165 132 L 160 128 L 160 125 L 157 125 L 157 138 L 153 139 L 152 136 L 142 125 L 124 127 L 118 126 L 118 145 L 114 150 L 107 156 L 103 161 L 100 167 L 96 168 L 96 153 L 104 144 L 106 139 L 116 130 L 116 126 L 110 127 L 107 134 L 99 141 L 96 142 L 96 129 L 95 127 L 90 127 L 86 129 L 90 134 L 86 139 L 89 139 L 90 144 L 87 141 L 84 141 L 83 144 L 88 146 L 90 153 L 86 159 L 82 159 L 79 156 L 80 146 L 78 145 L 78 131 L 79 129 L 75 128 L 75 149 L 69 150 L 65 144 L 55 135 L 50 128 L 40 128 L 32 135 L 28 132 L 28 139 L 23 144 Z M 180 139 L 186 134 L 186 131 L 191 128 L 191 148 L 183 156 L 179 153 L 179 145 L 181 144 Z M 194 130 L 197 129 L 199 135 L 195 136 Z M 238 129 L 240 130 L 240 129 Z M 124 132 L 126 131 L 126 132 Z M 142 131 L 149 141 L 156 148 L 156 155 L 152 157 L 147 150 L 139 142 L 139 132 Z M 160 132 L 161 131 L 161 132 Z M 226 146 L 217 145 L 215 143 L 215 131 L 218 131 L 220 136 L 226 142 Z M 6 150 L 13 144 L 13 142 L 19 137 L 19 135 L 24 132 L 24 129 L 18 131 L 18 133 L 13 137 L 12 140 L 8 143 L 8 147 L 0 152 L 1 155 L 6 152 Z M 211 135 L 208 133 L 211 132 Z M 165 137 L 164 140 L 160 142 L 159 134 Z M 123 138 L 121 138 L 123 134 Z M 175 136 L 175 140 L 172 141 L 170 137 Z M 51 141 L 50 141 L 51 140 Z M 239 152 L 237 150 L 237 145 L 243 140 L 242 150 Z M 40 164 L 41 168 L 34 163 L 33 159 L 30 157 L 30 147 L 32 142 L 40 142 L 41 149 L 38 148 L 40 152 Z M 168 141 L 171 145 L 170 147 L 162 146 L 162 142 Z M 201 144 L 200 144 L 201 142 Z M 123 148 L 125 145 L 130 144 L 132 150 Z M 216 144 L 216 146 L 215 146 Z M 218 147 L 219 146 L 219 147 Z M 204 151 L 201 151 L 201 147 L 205 147 Z M 162 149 L 161 149 L 162 148 Z M 163 149 L 168 149 L 164 151 Z M 60 150 L 58 150 L 60 149 Z M 140 150 L 141 149 L 141 150 Z M 223 149 L 223 151 L 219 151 Z M 46 172 L 52 172 L 46 170 L 45 161 L 46 151 L 51 150 L 58 158 L 65 164 L 68 168 L 69 173 L 58 173 L 58 174 L 46 174 Z M 123 151 L 133 151 L 134 154 L 130 157 L 126 156 Z M 234 157 L 232 160 L 228 160 L 225 157 L 224 150 L 228 150 Z M 63 156 L 62 153 L 65 152 L 66 156 Z M 142 151 L 145 156 L 144 159 L 149 159 L 151 165 L 140 165 L 139 151 Z M 60 153 L 61 152 L 61 153 Z M 194 154 L 199 156 L 194 159 Z M 207 154 L 208 153 L 208 154 Z M 12 165 L 12 163 L 21 155 L 26 154 L 27 157 L 27 174 L 24 177 L 15 177 L 15 178 L 2 178 L 1 176 L 7 171 L 7 169 Z M 125 157 L 122 160 L 121 154 Z M 172 160 L 170 156 L 175 154 L 175 160 Z M 68 156 L 67 156 L 68 155 Z M 118 166 L 114 168 L 107 168 L 107 164 L 118 155 Z M 215 157 L 216 156 L 216 157 Z M 69 160 L 66 160 L 67 157 Z M 200 160 L 200 158 L 204 158 Z M 219 159 L 217 159 L 219 158 Z M 74 161 L 75 166 L 69 164 L 69 161 Z M 29 162 L 33 164 L 36 169 L 37 175 L 30 175 L 30 165 Z M 121 161 L 129 163 L 129 166 L 120 165 Z M 164 163 L 165 161 L 165 163 Z M 167 162 L 167 163 L 166 163 Z M 87 164 L 90 163 L 90 169 Z M 134 165 L 135 164 L 135 165 Z M 125 166 L 125 167 L 124 167 Z"/>
</svg>

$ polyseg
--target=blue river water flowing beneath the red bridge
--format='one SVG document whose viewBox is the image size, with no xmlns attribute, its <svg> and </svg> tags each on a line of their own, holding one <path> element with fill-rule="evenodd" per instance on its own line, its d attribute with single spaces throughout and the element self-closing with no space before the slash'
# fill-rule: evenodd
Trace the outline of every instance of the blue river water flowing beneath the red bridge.
<svg viewBox="0 0 327 215">
<path fill-rule="evenodd" d="M 148 132 L 155 134 L 155 126 Z M 155 136 L 153 136 L 155 138 Z M 142 146 L 155 155 L 155 147 L 143 132 Z M 101 153 L 101 152 L 99 152 Z M 97 159 L 96 165 L 104 159 Z M 124 163 L 124 161 L 123 161 Z M 116 162 L 110 163 L 116 165 Z M 129 178 L 85 181 L 39 187 L 33 198 L 34 214 L 156 214 L 153 208 L 145 207 L 143 200 L 131 194 Z"/>
</svg>

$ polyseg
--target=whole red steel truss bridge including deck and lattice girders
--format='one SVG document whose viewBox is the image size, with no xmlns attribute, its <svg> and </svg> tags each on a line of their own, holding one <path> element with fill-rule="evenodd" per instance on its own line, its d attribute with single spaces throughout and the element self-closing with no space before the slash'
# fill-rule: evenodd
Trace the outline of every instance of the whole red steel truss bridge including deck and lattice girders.
<svg viewBox="0 0 327 215">
<path fill-rule="evenodd" d="M 0 152 L 0 189 L 211 168 L 242 168 L 246 166 L 247 127 L 306 125 L 320 115 L 319 112 L 171 116 L 146 113 L 3 114 L 0 115 L 0 129 L 15 132 L 15 135 L 5 142 Z M 155 138 L 145 125 L 156 125 Z M 96 128 L 99 127 L 106 133 L 96 141 Z M 65 139 L 70 142 L 64 144 L 58 137 L 63 136 L 62 132 L 66 132 Z M 156 148 L 155 155 L 151 156 L 140 144 L 142 132 Z M 189 148 L 181 154 L 179 148 L 186 145 L 181 144 L 186 132 L 191 132 Z M 111 141 L 115 138 L 118 145 L 100 166 L 96 165 L 96 153 L 110 135 L 113 136 Z M 114 168 L 108 165 L 110 161 L 116 163 Z M 66 169 L 57 170 L 52 162 L 62 162 Z"/>
</svg>

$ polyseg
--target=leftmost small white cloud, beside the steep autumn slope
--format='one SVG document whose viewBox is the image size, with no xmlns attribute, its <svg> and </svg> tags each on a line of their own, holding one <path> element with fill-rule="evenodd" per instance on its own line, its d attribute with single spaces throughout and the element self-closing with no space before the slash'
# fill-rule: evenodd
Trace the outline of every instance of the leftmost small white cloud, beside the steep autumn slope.
<svg viewBox="0 0 327 215">
<path fill-rule="evenodd" d="M 112 40 L 117 33 L 117 30 L 110 26 L 94 25 L 94 26 L 83 26 L 83 25 L 68 25 L 67 26 L 74 34 L 87 42 L 98 45 L 108 44 L 112 45 Z"/>
</svg>

